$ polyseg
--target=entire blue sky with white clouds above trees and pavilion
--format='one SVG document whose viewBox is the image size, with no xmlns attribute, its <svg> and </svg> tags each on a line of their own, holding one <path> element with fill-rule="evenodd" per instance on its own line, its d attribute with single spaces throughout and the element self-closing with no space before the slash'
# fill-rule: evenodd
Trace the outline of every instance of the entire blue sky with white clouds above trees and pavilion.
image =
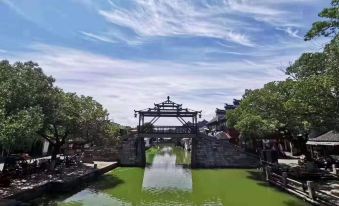
<svg viewBox="0 0 339 206">
<path fill-rule="evenodd" d="M 48 2 L 48 3 L 47 3 Z M 0 0 L 0 59 L 37 62 L 67 92 L 135 126 L 171 100 L 210 120 L 325 40 L 303 36 L 330 0 Z M 161 124 L 161 122 L 160 122 Z"/>
</svg>

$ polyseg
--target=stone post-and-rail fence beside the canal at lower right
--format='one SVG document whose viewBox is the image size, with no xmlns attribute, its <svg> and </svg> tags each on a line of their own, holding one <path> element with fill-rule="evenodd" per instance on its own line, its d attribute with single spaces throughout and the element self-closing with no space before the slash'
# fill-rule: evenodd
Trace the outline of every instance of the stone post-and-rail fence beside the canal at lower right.
<svg viewBox="0 0 339 206">
<path fill-rule="evenodd" d="M 264 168 L 266 181 L 302 198 L 315 205 L 334 206 L 339 205 L 339 197 L 328 191 L 318 189 L 314 182 L 307 181 L 302 183 L 287 177 L 287 173 L 283 172 L 278 175 L 272 172 L 271 166 Z"/>
</svg>

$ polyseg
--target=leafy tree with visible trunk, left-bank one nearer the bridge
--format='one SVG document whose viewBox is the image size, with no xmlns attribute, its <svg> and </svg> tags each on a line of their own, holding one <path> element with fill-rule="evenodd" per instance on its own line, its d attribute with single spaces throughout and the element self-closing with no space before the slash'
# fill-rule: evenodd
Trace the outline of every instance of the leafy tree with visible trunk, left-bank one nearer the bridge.
<svg viewBox="0 0 339 206">
<path fill-rule="evenodd" d="M 46 105 L 43 127 L 39 134 L 52 145 L 52 161 L 69 139 L 94 142 L 108 134 L 108 113 L 91 97 L 55 90 Z"/>
</svg>

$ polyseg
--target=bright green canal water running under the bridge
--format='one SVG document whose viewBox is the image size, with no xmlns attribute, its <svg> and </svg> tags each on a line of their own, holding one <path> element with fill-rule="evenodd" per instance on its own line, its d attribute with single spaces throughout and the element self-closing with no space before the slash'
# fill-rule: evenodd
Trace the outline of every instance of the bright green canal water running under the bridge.
<svg viewBox="0 0 339 206">
<path fill-rule="evenodd" d="M 148 166 L 117 168 L 69 195 L 44 197 L 38 205 L 227 205 L 302 206 L 303 201 L 256 180 L 256 170 L 197 169 L 190 154 L 163 146 L 147 152 Z"/>
</svg>

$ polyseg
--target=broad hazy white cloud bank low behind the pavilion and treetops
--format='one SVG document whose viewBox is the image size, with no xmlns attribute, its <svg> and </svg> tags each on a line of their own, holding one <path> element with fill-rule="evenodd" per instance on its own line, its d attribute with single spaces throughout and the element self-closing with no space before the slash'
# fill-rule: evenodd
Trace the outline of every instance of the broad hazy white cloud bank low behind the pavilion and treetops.
<svg viewBox="0 0 339 206">
<path fill-rule="evenodd" d="M 144 109 L 168 95 L 186 107 L 203 110 L 210 119 L 216 107 L 239 98 L 246 88 L 283 79 L 276 68 L 290 57 L 262 62 L 126 61 L 80 50 L 34 45 L 33 51 L 15 60 L 38 62 L 66 91 L 93 96 L 108 108 L 111 117 L 135 125 L 134 109 Z"/>
</svg>

